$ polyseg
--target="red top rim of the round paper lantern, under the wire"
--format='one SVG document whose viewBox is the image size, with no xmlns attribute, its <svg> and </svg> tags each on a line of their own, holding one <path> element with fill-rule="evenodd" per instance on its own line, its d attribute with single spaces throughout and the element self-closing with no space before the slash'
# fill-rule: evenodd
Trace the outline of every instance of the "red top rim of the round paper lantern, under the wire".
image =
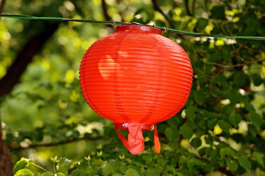
<svg viewBox="0 0 265 176">
<path fill-rule="evenodd" d="M 146 31 L 146 32 L 151 32 L 155 34 L 160 34 L 162 35 L 162 30 L 153 28 L 150 26 L 143 26 L 143 25 L 120 25 L 117 26 L 115 31 Z"/>
</svg>

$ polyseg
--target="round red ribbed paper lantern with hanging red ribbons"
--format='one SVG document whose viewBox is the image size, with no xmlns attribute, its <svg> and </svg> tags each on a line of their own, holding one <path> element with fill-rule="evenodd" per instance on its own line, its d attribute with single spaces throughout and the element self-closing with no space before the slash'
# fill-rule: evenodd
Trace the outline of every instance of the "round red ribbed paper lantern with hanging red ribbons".
<svg viewBox="0 0 265 176">
<path fill-rule="evenodd" d="M 192 67 L 186 52 L 162 36 L 160 29 L 121 25 L 88 48 L 80 65 L 80 83 L 89 106 L 112 120 L 125 147 L 133 154 L 144 149 L 142 130 L 174 116 L 186 103 Z M 128 130 L 128 140 L 117 130 Z"/>
</svg>

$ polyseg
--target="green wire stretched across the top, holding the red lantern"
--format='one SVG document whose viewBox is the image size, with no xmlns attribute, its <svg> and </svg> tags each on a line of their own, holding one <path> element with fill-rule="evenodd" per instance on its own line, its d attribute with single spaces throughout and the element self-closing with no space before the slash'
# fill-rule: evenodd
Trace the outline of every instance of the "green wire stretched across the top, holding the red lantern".
<svg viewBox="0 0 265 176">
<path fill-rule="evenodd" d="M 137 24 L 137 25 L 144 25 L 138 23 L 126 23 L 126 22 L 116 22 L 116 21 L 94 21 L 94 20 L 82 20 L 82 19 L 68 19 L 68 18 L 61 18 L 61 17 L 33 17 L 27 15 L 16 15 L 16 14 L 0 14 L 0 17 L 6 18 L 16 18 L 16 19 L 28 19 L 28 20 L 47 20 L 47 21 L 72 21 L 72 22 L 80 22 L 80 23 L 94 23 L 94 24 L 104 24 L 104 25 L 124 25 L 124 24 Z M 150 25 L 144 25 L 150 26 Z M 226 36 L 226 35 L 216 35 L 216 34 L 202 34 L 196 32 L 186 32 L 166 27 L 160 26 L 151 26 L 154 28 L 158 28 L 164 31 L 168 31 L 171 33 L 176 33 L 179 35 L 187 35 L 187 36 L 199 36 L 199 37 L 213 37 L 213 38 L 221 38 L 221 39 L 247 39 L 247 40 L 265 40 L 265 37 L 255 37 L 255 36 Z"/>
</svg>

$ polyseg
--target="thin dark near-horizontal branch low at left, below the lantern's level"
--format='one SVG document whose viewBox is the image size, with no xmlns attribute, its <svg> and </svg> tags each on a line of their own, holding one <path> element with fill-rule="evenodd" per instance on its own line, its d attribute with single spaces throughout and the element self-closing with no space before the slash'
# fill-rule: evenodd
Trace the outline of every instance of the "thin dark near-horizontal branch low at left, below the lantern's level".
<svg viewBox="0 0 265 176">
<path fill-rule="evenodd" d="M 68 144 L 68 143 L 72 143 L 72 142 L 76 142 L 76 141 L 80 141 L 80 140 L 89 140 L 89 141 L 95 141 L 95 140 L 100 140 L 103 139 L 103 136 L 98 136 L 98 137 L 93 137 L 93 138 L 75 138 L 75 139 L 70 139 L 70 140 L 66 140 L 66 141 L 60 141 L 60 142 L 56 142 L 56 143 L 48 143 L 48 144 L 32 144 L 29 145 L 27 147 L 16 147 L 16 148 L 12 148 L 13 150 L 23 150 L 23 149 L 30 149 L 30 148 L 36 148 L 36 147 L 54 147 L 57 145 L 63 145 L 63 144 Z"/>
</svg>

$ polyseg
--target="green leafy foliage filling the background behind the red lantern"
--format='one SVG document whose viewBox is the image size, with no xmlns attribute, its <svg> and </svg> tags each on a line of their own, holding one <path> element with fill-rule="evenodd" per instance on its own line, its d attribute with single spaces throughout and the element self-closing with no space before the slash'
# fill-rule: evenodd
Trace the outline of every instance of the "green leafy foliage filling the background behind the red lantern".
<svg viewBox="0 0 265 176">
<path fill-rule="evenodd" d="M 4 13 L 265 36 L 264 7 L 265 1 L 257 0 L 12 0 Z M 113 123 L 86 105 L 78 81 L 83 53 L 112 32 L 113 26 L 97 24 L 1 19 L 2 137 L 13 161 L 34 159 L 22 158 L 14 172 L 45 172 L 35 163 L 50 171 L 46 175 L 265 175 L 264 41 L 164 32 L 190 56 L 192 91 L 175 117 L 158 124 L 161 153 L 155 153 L 150 131 L 144 133 L 145 151 L 135 156 Z"/>
</svg>

